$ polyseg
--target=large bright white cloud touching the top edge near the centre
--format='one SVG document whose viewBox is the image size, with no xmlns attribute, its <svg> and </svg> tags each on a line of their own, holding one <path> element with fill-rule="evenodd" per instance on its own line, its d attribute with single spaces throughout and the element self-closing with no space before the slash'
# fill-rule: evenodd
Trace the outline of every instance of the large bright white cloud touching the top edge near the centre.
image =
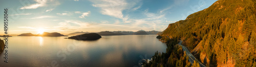
<svg viewBox="0 0 256 67">
<path fill-rule="evenodd" d="M 101 14 L 123 19 L 123 10 L 133 8 L 139 0 L 126 2 L 125 0 L 91 0 L 93 7 L 101 8 Z M 135 8 L 138 9 L 138 8 Z"/>
</svg>

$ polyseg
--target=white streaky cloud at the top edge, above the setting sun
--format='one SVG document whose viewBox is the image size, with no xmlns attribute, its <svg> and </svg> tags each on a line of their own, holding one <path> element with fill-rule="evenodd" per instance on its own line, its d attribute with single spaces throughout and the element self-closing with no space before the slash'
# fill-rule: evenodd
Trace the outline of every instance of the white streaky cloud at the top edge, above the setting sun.
<svg viewBox="0 0 256 67">
<path fill-rule="evenodd" d="M 36 4 L 24 6 L 19 9 L 36 9 L 38 7 L 45 7 L 45 6 L 56 6 L 59 5 L 60 3 L 56 0 L 34 0 Z"/>
</svg>

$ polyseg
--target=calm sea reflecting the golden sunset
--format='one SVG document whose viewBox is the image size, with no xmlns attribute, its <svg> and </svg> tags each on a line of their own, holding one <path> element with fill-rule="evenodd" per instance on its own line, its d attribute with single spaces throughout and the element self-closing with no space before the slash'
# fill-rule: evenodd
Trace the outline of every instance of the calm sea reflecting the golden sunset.
<svg viewBox="0 0 256 67">
<path fill-rule="evenodd" d="M 1 66 L 140 66 L 156 51 L 166 52 L 157 35 L 102 36 L 95 41 L 66 37 L 9 37 L 8 63 Z M 1 38 L 3 39 L 3 37 Z"/>
</svg>

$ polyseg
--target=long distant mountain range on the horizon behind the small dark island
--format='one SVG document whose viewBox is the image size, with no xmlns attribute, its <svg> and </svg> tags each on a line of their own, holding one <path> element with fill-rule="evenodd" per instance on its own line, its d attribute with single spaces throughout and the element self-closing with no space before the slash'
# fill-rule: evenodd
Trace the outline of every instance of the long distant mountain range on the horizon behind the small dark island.
<svg viewBox="0 0 256 67">
<path fill-rule="evenodd" d="M 160 31 L 144 31 L 144 30 L 140 30 L 137 32 L 133 32 L 133 31 L 101 31 L 98 32 L 99 35 L 101 36 L 110 36 L 110 35 L 148 35 L 148 34 L 155 34 L 157 35 Z M 80 34 L 85 34 L 85 33 L 90 33 L 90 32 L 74 32 L 74 33 L 70 33 L 67 35 L 80 35 Z M 93 33 L 93 32 L 92 32 Z M 96 32 L 97 33 L 97 32 Z"/>
</svg>

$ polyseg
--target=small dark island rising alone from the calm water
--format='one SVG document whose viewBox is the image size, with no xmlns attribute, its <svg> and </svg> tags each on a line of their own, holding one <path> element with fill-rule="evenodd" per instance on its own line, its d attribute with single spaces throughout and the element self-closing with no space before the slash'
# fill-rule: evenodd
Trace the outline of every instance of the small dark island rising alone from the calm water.
<svg viewBox="0 0 256 67">
<path fill-rule="evenodd" d="M 87 33 L 82 35 L 76 35 L 68 37 L 69 39 L 76 39 L 76 40 L 97 40 L 101 38 L 101 36 L 97 33 Z"/>
</svg>

